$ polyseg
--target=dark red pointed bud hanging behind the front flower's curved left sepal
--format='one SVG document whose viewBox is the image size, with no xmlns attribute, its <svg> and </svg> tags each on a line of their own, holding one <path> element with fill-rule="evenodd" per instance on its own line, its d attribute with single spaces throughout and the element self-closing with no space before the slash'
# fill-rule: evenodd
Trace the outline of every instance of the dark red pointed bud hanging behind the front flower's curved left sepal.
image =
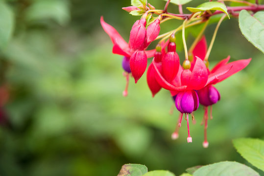
<svg viewBox="0 0 264 176">
<path fill-rule="evenodd" d="M 157 63 L 156 66 L 158 70 L 161 71 L 161 63 Z M 161 86 L 156 81 L 155 68 L 152 63 L 148 66 L 147 73 L 146 73 L 146 80 L 147 80 L 148 88 L 150 89 L 150 91 L 152 92 L 152 96 L 154 97 L 155 94 L 160 91 Z"/>
</svg>

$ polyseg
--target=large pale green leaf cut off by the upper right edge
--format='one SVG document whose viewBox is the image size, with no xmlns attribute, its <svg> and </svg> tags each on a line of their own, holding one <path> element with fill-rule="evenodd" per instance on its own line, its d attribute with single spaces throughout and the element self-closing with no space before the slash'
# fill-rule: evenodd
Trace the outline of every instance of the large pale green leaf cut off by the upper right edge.
<svg viewBox="0 0 264 176">
<path fill-rule="evenodd" d="M 246 10 L 241 10 L 239 27 L 245 38 L 264 53 L 264 12 L 257 12 L 252 17 Z"/>
</svg>

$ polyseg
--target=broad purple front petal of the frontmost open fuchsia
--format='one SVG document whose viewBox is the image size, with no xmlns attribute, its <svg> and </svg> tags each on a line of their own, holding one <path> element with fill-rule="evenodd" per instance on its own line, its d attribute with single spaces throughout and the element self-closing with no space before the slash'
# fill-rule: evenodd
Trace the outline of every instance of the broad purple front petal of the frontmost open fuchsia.
<svg viewBox="0 0 264 176">
<path fill-rule="evenodd" d="M 194 110 L 194 100 L 192 97 L 192 90 L 187 90 L 183 94 L 181 99 L 181 109 L 184 111 L 184 113 L 192 113 L 192 111 Z"/>
</svg>

